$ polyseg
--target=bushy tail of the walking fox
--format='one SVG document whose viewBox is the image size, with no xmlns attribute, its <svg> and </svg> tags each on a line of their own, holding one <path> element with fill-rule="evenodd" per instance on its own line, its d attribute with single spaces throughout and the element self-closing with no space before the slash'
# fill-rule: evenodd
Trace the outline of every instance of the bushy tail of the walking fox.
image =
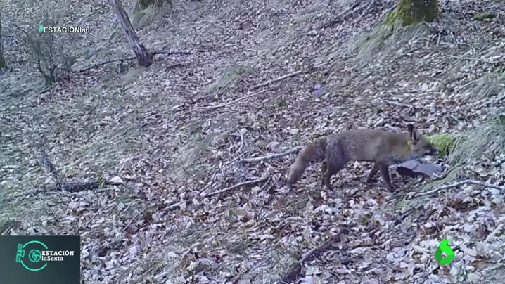
<svg viewBox="0 0 505 284">
<path fill-rule="evenodd" d="M 326 137 L 317 138 L 302 148 L 289 169 L 288 179 L 286 180 L 288 186 L 292 186 L 300 179 L 300 176 L 309 167 L 309 164 L 312 162 L 323 162 L 325 153 Z"/>
</svg>

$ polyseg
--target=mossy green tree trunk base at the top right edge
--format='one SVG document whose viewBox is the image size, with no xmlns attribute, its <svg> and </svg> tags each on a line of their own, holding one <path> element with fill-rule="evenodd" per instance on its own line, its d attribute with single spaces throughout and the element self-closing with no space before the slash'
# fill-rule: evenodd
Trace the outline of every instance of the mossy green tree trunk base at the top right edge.
<svg viewBox="0 0 505 284">
<path fill-rule="evenodd" d="M 431 22 L 438 13 L 438 0 L 399 0 L 398 6 L 385 18 L 385 24 L 402 22 L 403 25 Z"/>
</svg>

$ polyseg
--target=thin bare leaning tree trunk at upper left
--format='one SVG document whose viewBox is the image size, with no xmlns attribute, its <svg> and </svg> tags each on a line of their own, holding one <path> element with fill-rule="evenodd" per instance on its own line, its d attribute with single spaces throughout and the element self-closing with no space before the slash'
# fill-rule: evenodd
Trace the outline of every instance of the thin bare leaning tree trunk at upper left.
<svg viewBox="0 0 505 284">
<path fill-rule="evenodd" d="M 153 58 L 148 53 L 146 46 L 143 46 L 139 36 L 136 34 L 132 22 L 128 18 L 128 14 L 124 11 L 120 0 L 108 0 L 110 6 L 113 6 L 114 13 L 120 20 L 120 24 L 124 34 L 126 34 L 129 44 L 132 45 L 132 49 L 135 53 L 136 59 L 139 61 L 141 66 L 149 66 L 153 63 Z"/>
</svg>

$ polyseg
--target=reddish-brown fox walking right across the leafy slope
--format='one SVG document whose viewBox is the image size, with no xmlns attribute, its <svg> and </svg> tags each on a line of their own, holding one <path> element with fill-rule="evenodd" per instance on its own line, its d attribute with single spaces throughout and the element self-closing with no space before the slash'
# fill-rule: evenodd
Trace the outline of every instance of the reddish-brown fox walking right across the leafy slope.
<svg viewBox="0 0 505 284">
<path fill-rule="evenodd" d="M 309 164 L 322 162 L 321 184 L 333 191 L 331 176 L 337 174 L 348 162 L 373 162 L 366 176 L 366 183 L 371 183 L 373 176 L 381 172 L 385 187 L 392 192 L 395 188 L 391 185 L 389 175 L 391 165 L 438 154 L 439 150 L 419 134 L 412 124 L 407 124 L 407 133 L 381 129 L 352 129 L 322 136 L 308 143 L 291 165 L 286 183 L 293 186 Z"/>
</svg>

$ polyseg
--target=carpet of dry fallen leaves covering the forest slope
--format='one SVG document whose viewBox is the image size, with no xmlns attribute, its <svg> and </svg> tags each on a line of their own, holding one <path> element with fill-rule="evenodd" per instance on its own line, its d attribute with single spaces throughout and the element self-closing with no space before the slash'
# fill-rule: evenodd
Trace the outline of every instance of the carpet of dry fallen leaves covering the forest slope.
<svg viewBox="0 0 505 284">
<path fill-rule="evenodd" d="M 288 189 L 293 155 L 243 159 L 357 127 L 458 132 L 504 112 L 505 15 L 472 20 L 505 11 L 503 1 L 442 1 L 435 22 L 384 37 L 372 30 L 395 1 L 179 0 L 138 32 L 148 49 L 191 54 L 75 72 L 44 93 L 30 89 L 40 77 L 9 25 L 32 20 L 7 2 L 6 56 L 20 60 L 0 75 L 1 233 L 81 235 L 82 283 L 502 282 L 497 188 L 415 198 L 429 179 L 393 176 L 399 190 L 388 193 L 364 184 L 370 166 L 357 162 L 336 192 L 315 165 Z M 73 12 L 91 27 L 76 71 L 132 56 L 106 1 Z M 33 191 L 54 182 L 37 162 L 40 142 L 65 178 L 117 185 Z M 504 161 L 482 155 L 457 179 L 503 184 Z M 433 258 L 444 238 L 456 250 L 449 266 Z"/>
</svg>

